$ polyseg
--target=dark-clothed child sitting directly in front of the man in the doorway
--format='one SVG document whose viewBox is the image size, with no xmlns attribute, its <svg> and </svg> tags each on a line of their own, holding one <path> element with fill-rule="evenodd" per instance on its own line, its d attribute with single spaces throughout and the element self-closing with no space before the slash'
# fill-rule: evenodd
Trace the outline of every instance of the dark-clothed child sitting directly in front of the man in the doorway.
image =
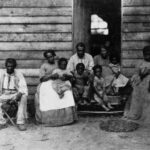
<svg viewBox="0 0 150 150">
<path fill-rule="evenodd" d="M 78 104 L 88 104 L 89 101 L 89 74 L 85 72 L 85 65 L 78 63 L 76 71 L 73 73 L 73 94 Z"/>
</svg>

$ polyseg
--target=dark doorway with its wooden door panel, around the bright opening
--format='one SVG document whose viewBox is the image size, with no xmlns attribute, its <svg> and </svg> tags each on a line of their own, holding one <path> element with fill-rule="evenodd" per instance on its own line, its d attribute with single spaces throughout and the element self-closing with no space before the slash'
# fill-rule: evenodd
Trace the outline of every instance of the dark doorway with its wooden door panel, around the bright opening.
<svg viewBox="0 0 150 150">
<path fill-rule="evenodd" d="M 97 14 L 108 23 L 108 35 L 91 33 L 91 15 Z M 74 47 L 78 42 L 86 44 L 93 56 L 99 47 L 110 42 L 110 53 L 121 54 L 121 0 L 74 0 L 73 15 Z"/>
</svg>

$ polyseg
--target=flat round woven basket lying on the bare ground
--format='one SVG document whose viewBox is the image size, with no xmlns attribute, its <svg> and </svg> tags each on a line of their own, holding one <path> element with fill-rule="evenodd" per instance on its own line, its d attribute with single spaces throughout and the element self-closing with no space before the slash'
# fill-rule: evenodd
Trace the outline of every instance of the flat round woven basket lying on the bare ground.
<svg viewBox="0 0 150 150">
<path fill-rule="evenodd" d="M 139 124 L 122 119 L 109 119 L 101 121 L 100 128 L 109 132 L 131 132 L 138 129 Z"/>
</svg>

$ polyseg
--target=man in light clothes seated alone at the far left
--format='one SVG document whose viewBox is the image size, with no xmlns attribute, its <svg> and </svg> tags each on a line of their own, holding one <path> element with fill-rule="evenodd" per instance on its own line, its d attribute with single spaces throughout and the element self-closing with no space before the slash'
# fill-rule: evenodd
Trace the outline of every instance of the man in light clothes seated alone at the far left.
<svg viewBox="0 0 150 150">
<path fill-rule="evenodd" d="M 26 81 L 21 72 L 16 70 L 17 63 L 13 58 L 6 59 L 6 70 L 0 72 L 0 128 L 6 127 L 3 117 L 2 105 L 7 102 L 17 102 L 17 125 L 21 131 L 26 130 L 25 119 L 27 118 L 27 95 Z"/>
</svg>

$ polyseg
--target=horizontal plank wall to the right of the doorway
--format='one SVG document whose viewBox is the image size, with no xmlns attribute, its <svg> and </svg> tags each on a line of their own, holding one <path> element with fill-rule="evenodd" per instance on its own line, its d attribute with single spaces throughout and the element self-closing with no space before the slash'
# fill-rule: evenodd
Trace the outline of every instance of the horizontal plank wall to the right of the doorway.
<svg viewBox="0 0 150 150">
<path fill-rule="evenodd" d="M 150 0 L 122 0 L 122 67 L 131 76 L 150 44 Z"/>
</svg>

